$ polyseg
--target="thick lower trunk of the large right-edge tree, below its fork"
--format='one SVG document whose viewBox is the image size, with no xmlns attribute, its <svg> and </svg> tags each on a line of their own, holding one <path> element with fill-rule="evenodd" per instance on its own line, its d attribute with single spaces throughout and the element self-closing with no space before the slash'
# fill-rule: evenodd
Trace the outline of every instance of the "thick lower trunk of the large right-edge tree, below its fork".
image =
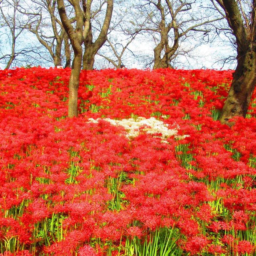
<svg viewBox="0 0 256 256">
<path fill-rule="evenodd" d="M 220 121 L 231 125 L 232 117 L 245 117 L 256 85 L 256 53 L 241 56 L 233 74 L 228 97 L 221 112 Z"/>
</svg>

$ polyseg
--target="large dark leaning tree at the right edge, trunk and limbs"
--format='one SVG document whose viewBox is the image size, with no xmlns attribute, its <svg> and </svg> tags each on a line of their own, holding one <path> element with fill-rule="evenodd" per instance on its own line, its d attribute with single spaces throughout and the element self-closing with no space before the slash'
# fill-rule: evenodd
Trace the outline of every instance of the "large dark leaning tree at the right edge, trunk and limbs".
<svg viewBox="0 0 256 256">
<path fill-rule="evenodd" d="M 222 123 L 230 125 L 232 117 L 246 116 L 256 85 L 256 1 L 216 2 L 225 12 L 237 46 L 237 67 L 220 117 Z"/>
</svg>

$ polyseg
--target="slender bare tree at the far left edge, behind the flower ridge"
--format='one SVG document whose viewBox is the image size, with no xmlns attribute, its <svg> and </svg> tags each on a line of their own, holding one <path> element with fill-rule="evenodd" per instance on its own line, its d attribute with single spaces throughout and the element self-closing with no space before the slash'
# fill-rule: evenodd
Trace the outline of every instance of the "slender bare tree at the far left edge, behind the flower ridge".
<svg viewBox="0 0 256 256">
<path fill-rule="evenodd" d="M 17 47 L 18 38 L 21 37 L 24 32 L 24 28 L 29 24 L 31 19 L 24 15 L 19 15 L 18 7 L 22 5 L 21 0 L 1 0 L 0 11 L 4 25 L 2 29 L 5 31 L 2 34 L 2 38 L 6 38 L 10 43 L 10 52 L 6 52 L 1 49 L 0 61 L 4 61 L 6 64 L 5 69 L 9 69 L 19 55 L 27 55 L 33 51 L 30 47 L 26 47 L 20 44 Z"/>
</svg>

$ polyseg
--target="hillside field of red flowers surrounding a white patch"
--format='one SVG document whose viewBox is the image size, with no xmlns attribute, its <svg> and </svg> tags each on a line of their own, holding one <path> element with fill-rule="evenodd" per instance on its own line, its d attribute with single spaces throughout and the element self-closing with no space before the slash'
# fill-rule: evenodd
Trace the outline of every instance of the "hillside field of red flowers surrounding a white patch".
<svg viewBox="0 0 256 256">
<path fill-rule="evenodd" d="M 0 255 L 256 255 L 256 102 L 232 71 L 0 70 Z M 255 93 L 253 99 L 255 98 Z"/>
</svg>

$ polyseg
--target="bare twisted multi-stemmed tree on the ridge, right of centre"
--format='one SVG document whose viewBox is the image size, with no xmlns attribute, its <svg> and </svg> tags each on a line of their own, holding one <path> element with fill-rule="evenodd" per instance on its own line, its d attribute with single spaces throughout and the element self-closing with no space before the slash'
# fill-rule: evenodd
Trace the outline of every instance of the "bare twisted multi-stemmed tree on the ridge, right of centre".
<svg viewBox="0 0 256 256">
<path fill-rule="evenodd" d="M 213 13 L 204 11 L 199 1 L 141 0 L 137 7 L 147 18 L 143 31 L 156 45 L 154 69 L 172 67 L 182 41 L 198 42 L 199 34 L 206 35 L 213 22 L 223 19 L 221 15 L 212 18 Z"/>
</svg>

